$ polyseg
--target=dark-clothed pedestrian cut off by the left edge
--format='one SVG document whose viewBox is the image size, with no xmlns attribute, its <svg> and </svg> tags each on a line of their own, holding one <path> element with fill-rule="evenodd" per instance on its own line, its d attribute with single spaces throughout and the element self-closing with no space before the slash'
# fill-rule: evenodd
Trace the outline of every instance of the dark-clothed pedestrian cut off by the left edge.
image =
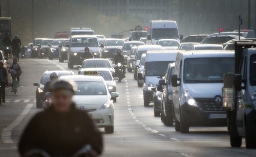
<svg viewBox="0 0 256 157">
<path fill-rule="evenodd" d="M 5 85 L 8 84 L 8 75 L 3 62 L 0 62 L 0 84 L 2 88 L 2 101 L 5 102 Z"/>
</svg>

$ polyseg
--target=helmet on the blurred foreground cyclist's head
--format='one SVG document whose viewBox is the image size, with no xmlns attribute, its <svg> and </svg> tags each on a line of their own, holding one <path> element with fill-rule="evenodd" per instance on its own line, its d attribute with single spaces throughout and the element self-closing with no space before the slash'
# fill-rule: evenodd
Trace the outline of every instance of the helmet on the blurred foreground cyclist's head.
<svg viewBox="0 0 256 157">
<path fill-rule="evenodd" d="M 68 90 L 72 93 L 76 91 L 75 82 L 57 81 L 51 87 L 51 92 L 55 90 Z"/>
</svg>

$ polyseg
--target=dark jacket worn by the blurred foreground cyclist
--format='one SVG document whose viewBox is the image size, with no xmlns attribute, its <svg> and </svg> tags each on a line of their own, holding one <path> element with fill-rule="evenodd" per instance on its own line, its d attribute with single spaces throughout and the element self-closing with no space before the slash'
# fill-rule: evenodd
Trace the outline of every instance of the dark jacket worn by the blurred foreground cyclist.
<svg viewBox="0 0 256 157">
<path fill-rule="evenodd" d="M 31 149 L 42 149 L 51 156 L 71 156 L 90 144 L 102 153 L 102 135 L 89 115 L 72 104 L 69 113 L 58 113 L 53 105 L 37 113 L 29 122 L 19 141 L 21 156 Z"/>
</svg>

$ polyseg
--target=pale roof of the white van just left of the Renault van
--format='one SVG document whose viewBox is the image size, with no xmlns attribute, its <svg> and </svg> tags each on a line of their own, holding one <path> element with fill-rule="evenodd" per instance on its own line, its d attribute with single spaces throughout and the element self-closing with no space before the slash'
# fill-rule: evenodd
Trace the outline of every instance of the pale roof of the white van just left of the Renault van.
<svg viewBox="0 0 256 157">
<path fill-rule="evenodd" d="M 158 50 L 147 51 L 145 62 L 156 62 L 156 61 L 175 61 L 177 57 L 177 50 L 164 50 L 159 52 Z"/>
</svg>

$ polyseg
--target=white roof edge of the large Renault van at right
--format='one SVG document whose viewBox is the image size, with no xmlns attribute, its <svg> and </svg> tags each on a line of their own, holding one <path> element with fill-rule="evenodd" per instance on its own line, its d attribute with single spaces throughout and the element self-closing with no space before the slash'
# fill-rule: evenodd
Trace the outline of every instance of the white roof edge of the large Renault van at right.
<svg viewBox="0 0 256 157">
<path fill-rule="evenodd" d="M 231 50 L 188 50 L 180 51 L 178 56 L 186 58 L 216 58 L 216 57 L 234 57 L 234 51 Z"/>
</svg>

